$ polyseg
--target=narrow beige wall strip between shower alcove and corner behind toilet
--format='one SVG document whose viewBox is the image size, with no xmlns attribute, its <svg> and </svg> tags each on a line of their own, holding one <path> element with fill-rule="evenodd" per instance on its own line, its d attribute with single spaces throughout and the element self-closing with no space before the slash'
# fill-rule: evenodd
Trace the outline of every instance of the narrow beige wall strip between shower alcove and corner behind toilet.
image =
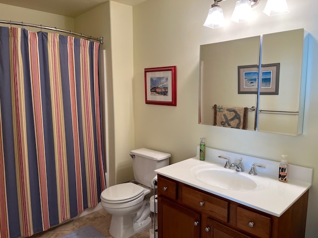
<svg viewBox="0 0 318 238">
<path fill-rule="evenodd" d="M 133 8 L 110 1 L 114 98 L 115 183 L 133 179 L 129 153 L 135 148 L 133 112 Z M 109 158 L 110 161 L 112 158 Z"/>
</svg>

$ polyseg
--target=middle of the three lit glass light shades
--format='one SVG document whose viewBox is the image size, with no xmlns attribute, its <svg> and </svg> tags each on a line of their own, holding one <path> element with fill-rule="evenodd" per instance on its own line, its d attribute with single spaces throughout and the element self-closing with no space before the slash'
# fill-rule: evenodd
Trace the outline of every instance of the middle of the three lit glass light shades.
<svg viewBox="0 0 318 238">
<path fill-rule="evenodd" d="M 245 22 L 252 18 L 252 7 L 249 0 L 237 1 L 231 20 L 235 22 Z"/>
</svg>

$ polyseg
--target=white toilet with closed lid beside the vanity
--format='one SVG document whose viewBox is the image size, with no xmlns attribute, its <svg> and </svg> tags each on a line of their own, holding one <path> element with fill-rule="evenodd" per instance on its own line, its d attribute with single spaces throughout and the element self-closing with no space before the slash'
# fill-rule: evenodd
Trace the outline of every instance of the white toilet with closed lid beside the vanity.
<svg viewBox="0 0 318 238">
<path fill-rule="evenodd" d="M 170 154 L 147 148 L 132 150 L 135 182 L 110 186 L 100 195 L 101 205 L 112 215 L 109 233 L 114 238 L 129 238 L 151 225 L 150 204 L 155 170 L 169 165 Z"/>
</svg>

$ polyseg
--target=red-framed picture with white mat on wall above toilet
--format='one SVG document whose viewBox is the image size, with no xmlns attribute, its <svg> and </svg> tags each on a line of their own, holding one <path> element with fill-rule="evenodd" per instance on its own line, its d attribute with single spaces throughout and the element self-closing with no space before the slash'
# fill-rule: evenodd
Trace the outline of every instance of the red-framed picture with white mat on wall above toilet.
<svg viewBox="0 0 318 238">
<path fill-rule="evenodd" d="M 146 104 L 176 106 L 176 66 L 145 68 Z"/>
</svg>

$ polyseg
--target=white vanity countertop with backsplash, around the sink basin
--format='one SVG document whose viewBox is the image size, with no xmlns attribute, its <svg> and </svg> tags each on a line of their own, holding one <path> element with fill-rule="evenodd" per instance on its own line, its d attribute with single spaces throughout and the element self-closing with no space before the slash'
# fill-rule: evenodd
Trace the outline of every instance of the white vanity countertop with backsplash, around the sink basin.
<svg viewBox="0 0 318 238">
<path fill-rule="evenodd" d="M 225 160 L 218 159 L 218 155 L 228 156 L 231 162 L 238 163 L 242 158 L 247 176 L 250 166 L 253 163 L 266 166 L 266 169 L 257 168 L 257 176 L 250 176 L 251 179 L 266 179 L 269 186 L 263 189 L 236 191 L 210 185 L 196 179 L 191 169 L 199 165 L 216 164 L 223 168 Z M 224 170 L 227 170 L 224 168 Z M 288 182 L 278 181 L 279 162 L 254 158 L 227 151 L 220 151 L 206 148 L 206 160 L 200 161 L 197 157 L 190 158 L 156 170 L 159 175 L 174 179 L 212 194 L 227 198 L 248 207 L 280 217 L 299 197 L 301 197 L 312 185 L 313 169 L 289 165 Z M 239 172 L 237 172 L 239 173 Z"/>
</svg>

